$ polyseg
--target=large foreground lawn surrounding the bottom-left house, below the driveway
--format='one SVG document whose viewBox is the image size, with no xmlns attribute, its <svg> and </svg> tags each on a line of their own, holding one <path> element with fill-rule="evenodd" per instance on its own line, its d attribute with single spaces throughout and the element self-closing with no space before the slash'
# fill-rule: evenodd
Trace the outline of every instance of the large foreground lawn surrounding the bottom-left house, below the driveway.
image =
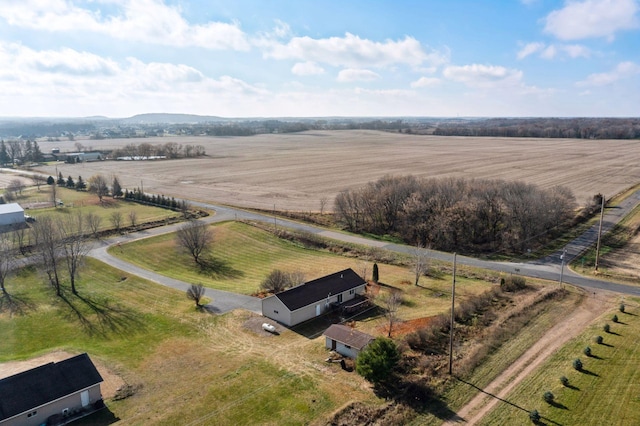
<svg viewBox="0 0 640 426">
<path fill-rule="evenodd" d="M 324 363 L 322 338 L 264 333 L 242 311 L 195 311 L 181 292 L 96 261 L 79 296 L 55 297 L 29 269 L 8 290 L 15 309 L 2 299 L 1 361 L 87 352 L 134 390 L 85 424 L 308 424 L 341 406 L 345 390 L 375 401 L 355 374 Z"/>
</svg>

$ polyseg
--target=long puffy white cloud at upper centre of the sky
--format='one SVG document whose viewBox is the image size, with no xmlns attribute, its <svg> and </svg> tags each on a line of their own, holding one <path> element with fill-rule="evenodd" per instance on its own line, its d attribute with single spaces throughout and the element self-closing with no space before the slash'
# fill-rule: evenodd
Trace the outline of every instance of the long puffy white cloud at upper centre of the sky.
<svg viewBox="0 0 640 426">
<path fill-rule="evenodd" d="M 264 56 L 267 58 L 298 59 L 351 68 L 397 64 L 417 67 L 425 62 L 433 65 L 447 62 L 446 54 L 425 52 L 420 42 L 413 37 L 381 43 L 346 33 L 344 37 L 323 39 L 294 37 L 286 44 L 264 42 L 263 46 L 266 49 Z"/>
</svg>

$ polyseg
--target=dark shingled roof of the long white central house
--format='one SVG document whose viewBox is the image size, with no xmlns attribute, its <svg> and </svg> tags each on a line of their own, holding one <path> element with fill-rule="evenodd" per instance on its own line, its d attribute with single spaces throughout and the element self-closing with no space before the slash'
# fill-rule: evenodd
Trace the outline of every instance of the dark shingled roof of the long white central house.
<svg viewBox="0 0 640 426">
<path fill-rule="evenodd" d="M 276 297 L 290 311 L 295 311 L 324 300 L 330 295 L 344 293 L 364 284 L 365 280 L 349 268 L 277 293 Z"/>
</svg>

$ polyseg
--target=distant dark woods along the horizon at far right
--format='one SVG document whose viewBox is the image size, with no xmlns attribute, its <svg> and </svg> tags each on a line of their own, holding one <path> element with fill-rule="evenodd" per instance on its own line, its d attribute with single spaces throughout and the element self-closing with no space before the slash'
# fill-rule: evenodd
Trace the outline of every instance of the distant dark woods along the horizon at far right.
<svg viewBox="0 0 640 426">
<path fill-rule="evenodd" d="M 440 123 L 439 136 L 638 139 L 639 118 L 491 118 Z"/>
</svg>

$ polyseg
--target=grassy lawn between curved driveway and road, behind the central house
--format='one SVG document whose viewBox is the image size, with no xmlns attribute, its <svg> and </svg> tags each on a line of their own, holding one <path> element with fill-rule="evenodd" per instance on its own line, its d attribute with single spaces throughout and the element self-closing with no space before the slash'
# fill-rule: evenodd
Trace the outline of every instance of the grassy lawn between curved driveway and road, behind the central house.
<svg viewBox="0 0 640 426">
<path fill-rule="evenodd" d="M 172 278 L 243 294 L 257 292 L 260 282 L 273 269 L 301 271 L 307 280 L 311 280 L 345 268 L 360 272 L 365 265 L 370 276 L 373 267 L 371 262 L 305 249 L 240 222 L 215 224 L 211 225 L 211 229 L 214 234 L 213 263 L 218 266 L 218 269 L 211 273 L 203 273 L 188 255 L 179 252 L 174 234 L 145 238 L 123 244 L 121 247 L 112 247 L 109 253 Z M 413 275 L 407 268 L 380 264 L 379 269 L 380 281 L 383 283 L 404 289 L 414 287 L 409 284 Z M 461 294 L 465 291 L 482 291 L 489 285 L 484 280 L 461 279 Z M 420 293 L 434 300 L 447 294 L 451 285 L 445 278 L 423 278 L 421 283 Z M 417 302 L 416 300 L 414 303 Z M 442 304 L 436 302 L 435 306 L 428 309 L 425 314 L 432 315 L 442 310 Z"/>
</svg>

